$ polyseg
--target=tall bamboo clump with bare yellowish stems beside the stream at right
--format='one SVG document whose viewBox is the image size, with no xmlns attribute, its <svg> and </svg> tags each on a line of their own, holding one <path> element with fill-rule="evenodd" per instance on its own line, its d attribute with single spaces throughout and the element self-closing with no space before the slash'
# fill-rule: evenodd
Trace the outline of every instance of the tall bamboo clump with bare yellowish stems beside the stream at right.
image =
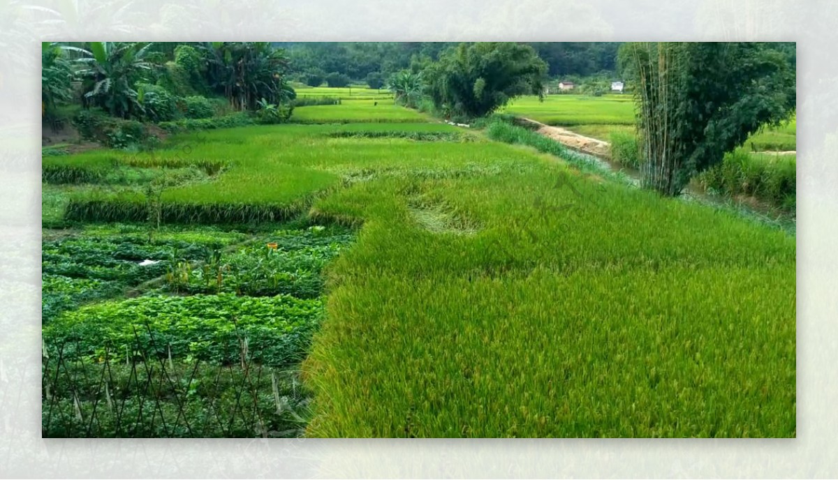
<svg viewBox="0 0 838 480">
<path fill-rule="evenodd" d="M 794 69 L 771 44 L 631 43 L 619 57 L 636 85 L 643 183 L 661 194 L 680 194 L 795 108 Z"/>
</svg>

